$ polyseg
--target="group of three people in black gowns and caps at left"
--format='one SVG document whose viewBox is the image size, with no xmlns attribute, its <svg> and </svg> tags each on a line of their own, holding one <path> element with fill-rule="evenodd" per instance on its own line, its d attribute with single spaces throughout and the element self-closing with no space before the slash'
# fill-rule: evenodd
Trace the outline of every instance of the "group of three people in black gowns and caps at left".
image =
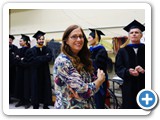
<svg viewBox="0 0 160 120">
<path fill-rule="evenodd" d="M 52 50 L 44 46 L 45 33 L 37 31 L 34 38 L 37 45 L 30 48 L 30 38 L 22 34 L 21 48 L 13 45 L 14 36 L 9 35 L 11 41 L 9 51 L 9 102 L 18 99 L 15 107 L 24 106 L 28 109 L 38 109 L 43 104 L 43 109 L 49 109 L 52 102 L 52 89 L 49 62 L 52 60 Z"/>
</svg>

